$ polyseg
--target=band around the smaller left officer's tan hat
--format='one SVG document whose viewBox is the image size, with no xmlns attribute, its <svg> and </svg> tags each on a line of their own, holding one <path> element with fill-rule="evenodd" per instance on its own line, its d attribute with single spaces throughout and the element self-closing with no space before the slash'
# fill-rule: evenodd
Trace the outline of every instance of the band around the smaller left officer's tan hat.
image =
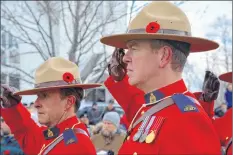
<svg viewBox="0 0 233 155">
<path fill-rule="evenodd" d="M 80 79 L 75 79 L 70 83 L 67 83 L 63 80 L 59 81 L 49 81 L 49 82 L 43 82 L 43 83 L 38 83 L 35 84 L 35 88 L 44 88 L 44 87 L 54 87 L 54 86 L 64 86 L 64 85 L 70 85 L 70 84 L 82 84 Z"/>
</svg>

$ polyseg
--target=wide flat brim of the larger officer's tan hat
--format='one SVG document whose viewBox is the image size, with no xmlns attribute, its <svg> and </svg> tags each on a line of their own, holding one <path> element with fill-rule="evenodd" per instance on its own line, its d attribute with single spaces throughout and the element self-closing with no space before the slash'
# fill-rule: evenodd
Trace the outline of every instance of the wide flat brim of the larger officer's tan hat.
<svg viewBox="0 0 233 155">
<path fill-rule="evenodd" d="M 188 37 L 188 36 L 177 36 L 172 34 L 117 34 L 106 36 L 100 39 L 103 44 L 127 49 L 126 43 L 130 40 L 138 40 L 138 39 L 167 39 L 167 40 L 175 40 L 182 41 L 191 44 L 190 51 L 191 52 L 203 52 L 214 50 L 219 47 L 217 42 L 199 38 L 199 37 Z"/>
</svg>

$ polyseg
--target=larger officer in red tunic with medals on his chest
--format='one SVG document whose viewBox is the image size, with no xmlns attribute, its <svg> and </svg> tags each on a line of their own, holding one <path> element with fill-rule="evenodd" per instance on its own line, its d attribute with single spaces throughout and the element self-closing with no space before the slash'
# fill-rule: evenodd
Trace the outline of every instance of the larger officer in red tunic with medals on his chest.
<svg viewBox="0 0 233 155">
<path fill-rule="evenodd" d="M 145 104 L 140 108 L 124 102 L 125 96 L 118 99 L 126 115 L 133 117 L 132 121 L 128 117 L 128 137 L 119 154 L 221 153 L 212 122 L 181 76 L 190 51 L 213 50 L 218 44 L 190 33 L 186 15 L 172 3 L 162 1 L 144 7 L 130 23 L 127 34 L 101 39 L 104 44 L 128 49 L 123 61 L 129 84 L 145 93 Z M 105 85 L 114 87 L 114 82 L 106 81 Z M 109 90 L 112 94 L 121 91 L 133 95 L 130 87 Z"/>
</svg>

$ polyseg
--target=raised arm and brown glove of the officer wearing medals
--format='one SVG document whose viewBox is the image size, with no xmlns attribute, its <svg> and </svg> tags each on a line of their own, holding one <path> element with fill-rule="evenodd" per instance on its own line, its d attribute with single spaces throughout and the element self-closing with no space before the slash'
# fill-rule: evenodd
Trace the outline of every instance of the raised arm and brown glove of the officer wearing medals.
<svg viewBox="0 0 233 155">
<path fill-rule="evenodd" d="M 129 122 L 144 103 L 144 92 L 129 85 L 126 75 L 126 64 L 122 61 L 123 49 L 115 49 L 108 65 L 109 77 L 104 82 L 105 86 L 124 109 Z M 130 108 L 129 108 L 130 107 Z"/>
</svg>

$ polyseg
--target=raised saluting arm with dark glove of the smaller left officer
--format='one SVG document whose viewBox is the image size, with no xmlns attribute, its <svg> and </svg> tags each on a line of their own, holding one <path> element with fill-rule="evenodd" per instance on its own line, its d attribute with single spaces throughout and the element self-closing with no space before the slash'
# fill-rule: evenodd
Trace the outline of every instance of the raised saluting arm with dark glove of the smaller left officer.
<svg viewBox="0 0 233 155">
<path fill-rule="evenodd" d="M 25 154 L 36 154 L 42 146 L 41 128 L 31 119 L 28 110 L 20 103 L 21 97 L 13 95 L 14 89 L 1 85 L 1 114 L 12 134 L 18 141 Z"/>
</svg>

